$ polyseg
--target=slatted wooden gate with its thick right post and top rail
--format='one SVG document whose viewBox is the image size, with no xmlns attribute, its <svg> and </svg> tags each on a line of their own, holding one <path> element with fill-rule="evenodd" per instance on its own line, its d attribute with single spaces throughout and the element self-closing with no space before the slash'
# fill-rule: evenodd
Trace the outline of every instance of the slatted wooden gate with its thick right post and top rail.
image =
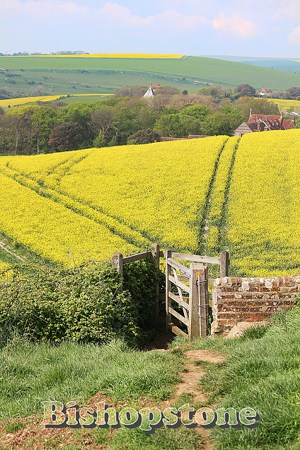
<svg viewBox="0 0 300 450">
<path fill-rule="evenodd" d="M 188 268 L 176 259 L 198 262 L 192 262 Z M 166 251 L 166 328 L 190 340 L 208 334 L 209 278 L 202 262 L 220 264 L 220 259 Z"/>
</svg>

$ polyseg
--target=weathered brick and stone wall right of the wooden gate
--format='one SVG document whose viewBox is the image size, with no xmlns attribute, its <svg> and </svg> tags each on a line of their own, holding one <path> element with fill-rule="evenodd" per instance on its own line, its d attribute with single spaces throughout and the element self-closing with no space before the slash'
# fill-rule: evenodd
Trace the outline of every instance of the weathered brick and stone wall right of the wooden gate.
<svg viewBox="0 0 300 450">
<path fill-rule="evenodd" d="M 300 276 L 216 278 L 211 333 L 226 336 L 236 323 L 268 321 L 276 311 L 292 307 L 299 291 Z"/>
</svg>

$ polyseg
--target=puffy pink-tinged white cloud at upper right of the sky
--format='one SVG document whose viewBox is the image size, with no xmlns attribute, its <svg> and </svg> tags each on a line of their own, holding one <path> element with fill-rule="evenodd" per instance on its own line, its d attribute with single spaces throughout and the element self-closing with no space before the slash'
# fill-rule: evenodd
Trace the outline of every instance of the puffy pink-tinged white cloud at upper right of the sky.
<svg viewBox="0 0 300 450">
<path fill-rule="evenodd" d="M 226 17 L 224 13 L 220 13 L 219 17 L 213 20 L 213 25 L 216 30 L 221 30 L 245 39 L 254 39 L 257 34 L 256 25 L 250 20 L 244 20 L 238 14 Z"/>
</svg>

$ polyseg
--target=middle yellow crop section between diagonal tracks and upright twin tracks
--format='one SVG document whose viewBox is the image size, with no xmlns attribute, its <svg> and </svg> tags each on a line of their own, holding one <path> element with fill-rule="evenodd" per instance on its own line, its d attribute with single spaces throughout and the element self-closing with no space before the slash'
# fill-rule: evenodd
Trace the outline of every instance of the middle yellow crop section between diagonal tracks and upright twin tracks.
<svg viewBox="0 0 300 450">
<path fill-rule="evenodd" d="M 198 218 L 224 139 L 101 148 L 75 165 L 60 189 L 152 242 L 197 251 Z"/>
</svg>

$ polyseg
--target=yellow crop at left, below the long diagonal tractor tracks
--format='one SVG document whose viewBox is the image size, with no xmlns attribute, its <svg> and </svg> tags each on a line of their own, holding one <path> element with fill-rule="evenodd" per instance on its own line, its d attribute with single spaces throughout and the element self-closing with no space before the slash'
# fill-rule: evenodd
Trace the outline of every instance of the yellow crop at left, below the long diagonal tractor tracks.
<svg viewBox="0 0 300 450">
<path fill-rule="evenodd" d="M 67 264 L 69 249 L 75 257 L 103 259 L 115 249 L 134 253 L 134 245 L 107 227 L 68 210 L 0 174 L 0 229 L 11 240 L 25 245 L 44 259 Z"/>
</svg>

